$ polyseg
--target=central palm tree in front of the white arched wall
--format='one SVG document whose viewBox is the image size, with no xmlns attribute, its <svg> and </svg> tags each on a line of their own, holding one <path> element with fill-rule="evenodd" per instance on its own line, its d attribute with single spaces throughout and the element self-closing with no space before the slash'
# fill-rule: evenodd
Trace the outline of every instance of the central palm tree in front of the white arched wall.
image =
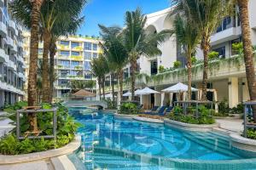
<svg viewBox="0 0 256 170">
<path fill-rule="evenodd" d="M 125 14 L 125 29 L 122 34 L 131 64 L 132 100 L 134 100 L 137 59 L 141 55 L 148 57 L 160 55 L 161 51 L 158 45 L 171 36 L 171 31 L 169 30 L 160 31 L 159 33 L 146 32 L 144 29 L 146 22 L 147 17 L 142 14 L 140 8 L 137 8 L 136 11 L 127 11 Z"/>
</svg>

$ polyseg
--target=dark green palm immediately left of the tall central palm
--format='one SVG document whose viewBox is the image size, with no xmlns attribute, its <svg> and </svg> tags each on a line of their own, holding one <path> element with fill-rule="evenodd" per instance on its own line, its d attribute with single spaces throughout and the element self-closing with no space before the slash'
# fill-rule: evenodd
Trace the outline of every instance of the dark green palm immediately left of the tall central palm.
<svg viewBox="0 0 256 170">
<path fill-rule="evenodd" d="M 121 28 L 113 26 L 106 27 L 99 25 L 101 36 L 104 44 L 102 49 L 108 60 L 110 68 L 117 71 L 119 77 L 120 99 L 123 97 L 123 68 L 128 61 L 128 53 L 125 49 L 125 44 L 122 41 Z M 113 77 L 113 74 L 112 74 Z M 112 89 L 113 91 L 113 89 Z M 112 92 L 113 93 L 113 92 Z M 114 99 L 114 94 L 113 94 Z"/>
</svg>

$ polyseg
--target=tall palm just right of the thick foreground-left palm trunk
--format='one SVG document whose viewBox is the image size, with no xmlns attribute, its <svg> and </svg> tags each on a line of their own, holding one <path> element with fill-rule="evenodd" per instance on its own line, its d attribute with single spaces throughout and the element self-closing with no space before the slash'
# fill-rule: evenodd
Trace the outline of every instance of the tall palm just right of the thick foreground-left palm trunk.
<svg viewBox="0 0 256 170">
<path fill-rule="evenodd" d="M 45 1 L 41 8 L 41 25 L 43 30 L 44 51 L 43 51 L 43 102 L 49 102 L 49 74 L 48 74 L 48 56 L 49 45 L 52 36 L 52 30 L 55 24 L 63 18 L 71 20 L 79 14 L 84 7 L 86 0 L 55 0 Z M 71 17 L 72 16 L 72 17 Z"/>
</svg>

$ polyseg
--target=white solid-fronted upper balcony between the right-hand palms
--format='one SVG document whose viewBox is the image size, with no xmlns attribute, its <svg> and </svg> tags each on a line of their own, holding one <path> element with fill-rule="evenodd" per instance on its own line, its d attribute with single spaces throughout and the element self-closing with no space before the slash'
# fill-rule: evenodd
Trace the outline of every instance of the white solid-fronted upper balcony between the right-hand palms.
<svg viewBox="0 0 256 170">
<path fill-rule="evenodd" d="M 230 27 L 224 31 L 219 31 L 212 35 L 211 45 L 216 45 L 222 42 L 228 42 L 241 36 L 241 26 Z"/>
</svg>

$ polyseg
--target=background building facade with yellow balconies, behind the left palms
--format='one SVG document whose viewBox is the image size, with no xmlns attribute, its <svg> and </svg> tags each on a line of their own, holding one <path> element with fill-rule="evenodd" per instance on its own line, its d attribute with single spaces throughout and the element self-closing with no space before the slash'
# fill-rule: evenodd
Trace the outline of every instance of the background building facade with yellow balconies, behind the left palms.
<svg viewBox="0 0 256 170">
<path fill-rule="evenodd" d="M 24 50 L 26 60 L 26 77 L 29 65 L 30 33 L 24 33 Z M 101 53 L 98 37 L 69 36 L 60 37 L 56 42 L 54 99 L 68 99 L 71 93 L 71 81 L 95 80 L 92 77 L 90 61 Z M 39 43 L 38 59 L 42 59 L 43 43 Z"/>
</svg>

